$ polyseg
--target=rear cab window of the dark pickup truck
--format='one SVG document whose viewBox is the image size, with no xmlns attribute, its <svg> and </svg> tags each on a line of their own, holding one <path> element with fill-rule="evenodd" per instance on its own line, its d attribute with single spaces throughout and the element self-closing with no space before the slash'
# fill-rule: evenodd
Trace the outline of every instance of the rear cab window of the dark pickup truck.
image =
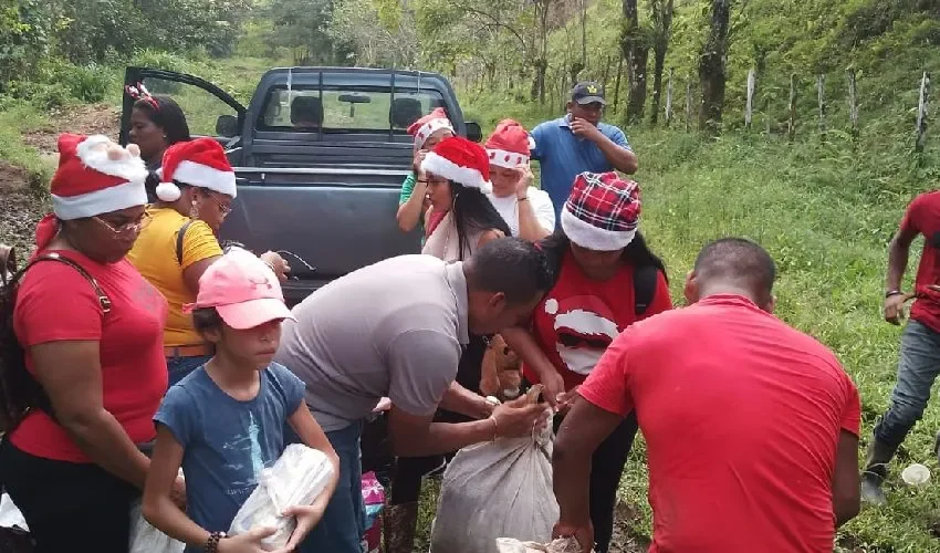
<svg viewBox="0 0 940 553">
<path fill-rule="evenodd" d="M 258 122 L 259 131 L 407 134 L 411 123 L 443 98 L 437 91 L 367 88 L 272 88 Z"/>
</svg>

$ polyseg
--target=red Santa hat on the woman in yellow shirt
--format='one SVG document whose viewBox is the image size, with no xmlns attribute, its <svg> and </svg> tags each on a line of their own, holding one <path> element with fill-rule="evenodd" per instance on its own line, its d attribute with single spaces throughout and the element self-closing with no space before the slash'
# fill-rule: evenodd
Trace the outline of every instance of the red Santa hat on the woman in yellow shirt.
<svg viewBox="0 0 940 553">
<path fill-rule="evenodd" d="M 157 185 L 157 198 L 163 201 L 179 199 L 179 187 L 173 181 L 236 197 L 236 179 L 226 150 L 212 138 L 178 142 L 164 153 Z"/>
</svg>

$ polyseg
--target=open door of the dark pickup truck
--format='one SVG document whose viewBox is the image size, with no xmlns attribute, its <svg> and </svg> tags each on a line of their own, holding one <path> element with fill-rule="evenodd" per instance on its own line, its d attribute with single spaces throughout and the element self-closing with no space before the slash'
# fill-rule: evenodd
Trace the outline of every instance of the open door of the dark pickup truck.
<svg viewBox="0 0 940 553">
<path fill-rule="evenodd" d="M 232 165 L 239 163 L 244 106 L 215 84 L 174 71 L 149 67 L 125 70 L 124 98 L 121 106 L 119 142 L 122 145 L 126 145 L 129 140 L 130 111 L 135 102 L 135 98 L 127 93 L 127 87 L 136 86 L 138 83 L 142 83 L 155 96 L 171 97 L 186 115 L 190 135 L 215 138 L 229 153 Z"/>
</svg>

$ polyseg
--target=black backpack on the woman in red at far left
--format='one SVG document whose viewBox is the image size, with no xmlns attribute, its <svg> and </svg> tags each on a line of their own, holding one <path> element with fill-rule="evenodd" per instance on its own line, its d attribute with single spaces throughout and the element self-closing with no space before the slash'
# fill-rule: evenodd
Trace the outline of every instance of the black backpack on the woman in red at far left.
<svg viewBox="0 0 940 553">
<path fill-rule="evenodd" d="M 13 310 L 20 280 L 30 268 L 44 261 L 64 263 L 79 271 L 94 288 L 102 312 L 107 314 L 111 311 L 111 300 L 95 278 L 75 261 L 55 252 L 34 257 L 4 283 L 0 291 L 0 431 L 9 432 L 17 428 L 30 409 L 43 410 L 55 418 L 49 396 L 27 369 L 23 347 L 13 331 Z"/>
</svg>

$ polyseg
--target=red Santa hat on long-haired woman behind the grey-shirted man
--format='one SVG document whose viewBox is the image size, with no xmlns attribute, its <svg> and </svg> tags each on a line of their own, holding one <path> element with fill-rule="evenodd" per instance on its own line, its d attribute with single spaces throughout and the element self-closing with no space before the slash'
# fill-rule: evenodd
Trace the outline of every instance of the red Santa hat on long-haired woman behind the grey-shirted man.
<svg viewBox="0 0 940 553">
<path fill-rule="evenodd" d="M 492 190 L 487 150 L 462 136 L 451 136 L 439 142 L 425 156 L 421 170 L 484 194 Z"/>
</svg>

